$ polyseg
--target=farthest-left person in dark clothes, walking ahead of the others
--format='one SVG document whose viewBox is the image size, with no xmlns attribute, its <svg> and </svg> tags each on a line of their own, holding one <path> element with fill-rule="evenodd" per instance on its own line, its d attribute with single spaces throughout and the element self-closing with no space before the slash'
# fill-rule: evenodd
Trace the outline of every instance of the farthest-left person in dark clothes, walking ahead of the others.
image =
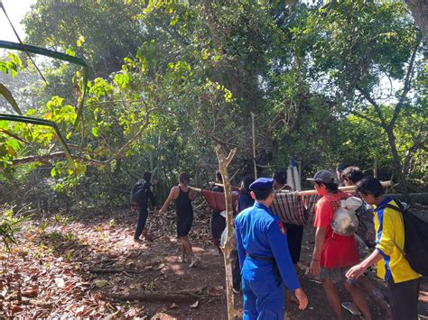
<svg viewBox="0 0 428 320">
<path fill-rule="evenodd" d="M 154 199 L 154 193 L 150 189 L 152 187 L 152 173 L 144 172 L 143 181 L 141 183 L 144 185 L 144 193 L 143 196 L 140 197 L 140 201 L 138 202 L 138 208 L 140 214 L 138 215 L 138 221 L 136 223 L 136 229 L 134 234 L 134 241 L 139 242 L 140 235 L 143 233 L 143 236 L 146 240 L 149 240 L 149 236 L 147 234 L 147 229 L 144 229 L 145 222 L 147 221 L 147 216 L 149 215 L 149 211 L 147 209 L 148 202 L 152 203 L 152 206 L 156 206 L 156 200 Z"/>
</svg>

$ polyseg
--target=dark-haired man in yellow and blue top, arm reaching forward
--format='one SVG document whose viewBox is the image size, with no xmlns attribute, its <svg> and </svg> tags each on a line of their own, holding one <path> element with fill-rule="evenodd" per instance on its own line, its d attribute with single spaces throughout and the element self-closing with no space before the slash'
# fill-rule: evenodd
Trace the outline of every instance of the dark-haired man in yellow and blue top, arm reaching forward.
<svg viewBox="0 0 428 320">
<path fill-rule="evenodd" d="M 389 304 L 393 320 L 418 318 L 417 303 L 421 275 L 415 272 L 402 254 L 405 247 L 405 225 L 398 205 L 386 197 L 377 178 L 363 178 L 357 191 L 364 201 L 375 208 L 374 221 L 377 233 L 376 250 L 367 259 L 347 272 L 348 279 L 358 279 L 368 267 L 377 263 L 377 276 L 388 283 Z M 396 206 L 397 210 L 385 207 Z"/>
</svg>

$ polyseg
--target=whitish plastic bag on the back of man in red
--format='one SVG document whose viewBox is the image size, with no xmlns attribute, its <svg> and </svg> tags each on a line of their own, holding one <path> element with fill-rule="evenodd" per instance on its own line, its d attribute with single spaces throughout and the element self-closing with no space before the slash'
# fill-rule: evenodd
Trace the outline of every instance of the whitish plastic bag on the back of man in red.
<svg viewBox="0 0 428 320">
<path fill-rule="evenodd" d="M 349 197 L 340 201 L 340 208 L 336 211 L 331 221 L 331 229 L 334 233 L 349 236 L 358 230 L 358 217 L 356 211 L 363 204 L 358 197 Z"/>
</svg>

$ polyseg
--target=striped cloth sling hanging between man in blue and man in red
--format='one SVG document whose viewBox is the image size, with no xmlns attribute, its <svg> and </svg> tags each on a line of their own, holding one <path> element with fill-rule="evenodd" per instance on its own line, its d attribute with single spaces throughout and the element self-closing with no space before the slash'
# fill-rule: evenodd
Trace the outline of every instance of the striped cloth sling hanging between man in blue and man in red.
<svg viewBox="0 0 428 320">
<path fill-rule="evenodd" d="M 313 221 L 317 195 L 301 197 L 297 192 L 276 192 L 270 207 L 286 224 L 309 224 Z"/>
</svg>

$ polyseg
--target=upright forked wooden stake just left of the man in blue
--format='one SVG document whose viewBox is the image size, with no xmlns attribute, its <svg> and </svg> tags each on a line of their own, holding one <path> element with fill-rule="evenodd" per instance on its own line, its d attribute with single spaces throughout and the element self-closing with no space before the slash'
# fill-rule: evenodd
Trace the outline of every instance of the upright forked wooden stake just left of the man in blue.
<svg viewBox="0 0 428 320">
<path fill-rule="evenodd" d="M 232 189 L 230 187 L 230 179 L 228 178 L 228 165 L 232 161 L 237 148 L 232 149 L 228 157 L 220 145 L 216 147 L 217 159 L 219 160 L 219 170 L 223 178 L 224 195 L 226 201 L 226 227 L 227 239 L 223 248 L 223 256 L 225 260 L 225 273 L 226 273 L 226 293 L 228 299 L 228 320 L 235 319 L 235 306 L 233 299 L 233 280 L 232 280 L 232 263 L 230 261 L 230 253 L 233 246 L 233 209 L 232 209 Z"/>
</svg>

